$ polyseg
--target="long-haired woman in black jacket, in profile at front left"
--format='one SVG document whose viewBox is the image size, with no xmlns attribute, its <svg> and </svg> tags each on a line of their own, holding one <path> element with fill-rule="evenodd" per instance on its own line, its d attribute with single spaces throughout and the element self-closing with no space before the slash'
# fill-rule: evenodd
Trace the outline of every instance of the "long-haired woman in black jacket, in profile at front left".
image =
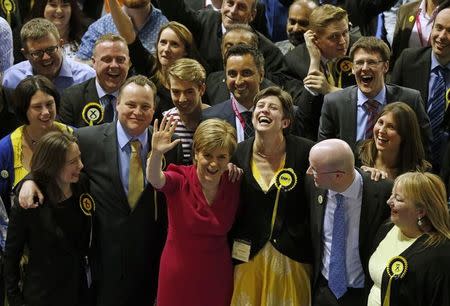
<svg viewBox="0 0 450 306">
<path fill-rule="evenodd" d="M 46 200 L 35 209 L 25 210 L 18 201 L 12 208 L 5 249 L 10 305 L 90 305 L 87 255 L 94 200 L 82 168 L 74 136 L 50 132 L 36 145 L 30 175 Z M 21 279 L 24 252 L 29 261 Z"/>
</svg>

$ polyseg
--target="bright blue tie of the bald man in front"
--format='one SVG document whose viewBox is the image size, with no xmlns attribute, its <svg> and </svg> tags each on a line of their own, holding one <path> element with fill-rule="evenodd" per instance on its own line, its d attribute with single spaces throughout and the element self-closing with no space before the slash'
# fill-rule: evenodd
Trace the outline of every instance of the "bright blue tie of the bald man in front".
<svg viewBox="0 0 450 306">
<path fill-rule="evenodd" d="M 347 269 L 345 266 L 345 210 L 344 196 L 336 194 L 336 209 L 334 210 L 333 237 L 331 240 L 330 269 L 328 287 L 337 299 L 347 291 Z"/>
</svg>

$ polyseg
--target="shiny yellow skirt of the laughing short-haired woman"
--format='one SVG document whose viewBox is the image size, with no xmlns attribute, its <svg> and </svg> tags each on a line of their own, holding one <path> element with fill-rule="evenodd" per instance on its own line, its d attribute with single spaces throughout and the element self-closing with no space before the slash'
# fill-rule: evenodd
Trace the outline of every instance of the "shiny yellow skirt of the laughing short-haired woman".
<svg viewBox="0 0 450 306">
<path fill-rule="evenodd" d="M 234 269 L 232 306 L 310 306 L 311 273 L 278 252 L 270 242 L 249 262 Z"/>
</svg>

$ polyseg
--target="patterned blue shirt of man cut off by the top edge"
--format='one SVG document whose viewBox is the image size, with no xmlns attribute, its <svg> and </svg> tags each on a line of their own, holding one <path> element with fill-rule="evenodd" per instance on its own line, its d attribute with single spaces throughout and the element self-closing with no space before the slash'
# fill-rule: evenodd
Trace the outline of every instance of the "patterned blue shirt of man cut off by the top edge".
<svg viewBox="0 0 450 306">
<path fill-rule="evenodd" d="M 164 16 L 159 9 L 152 6 L 152 11 L 147 17 L 147 20 L 139 31 L 138 37 L 144 47 L 151 53 L 155 53 L 156 39 L 158 38 L 159 29 L 168 23 L 166 16 Z M 107 33 L 118 34 L 117 28 L 111 17 L 107 14 L 91 24 L 87 32 L 81 39 L 81 45 L 78 49 L 77 57 L 81 60 L 89 60 L 92 57 L 92 50 L 97 39 Z"/>
</svg>

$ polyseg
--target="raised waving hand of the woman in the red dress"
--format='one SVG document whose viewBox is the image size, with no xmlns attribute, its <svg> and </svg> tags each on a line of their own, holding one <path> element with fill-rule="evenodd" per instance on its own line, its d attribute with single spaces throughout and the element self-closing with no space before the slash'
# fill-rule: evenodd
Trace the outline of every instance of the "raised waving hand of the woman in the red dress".
<svg viewBox="0 0 450 306">
<path fill-rule="evenodd" d="M 172 141 L 173 133 L 177 127 L 178 120 L 173 120 L 172 116 L 164 118 L 161 121 L 161 125 L 158 126 L 158 119 L 153 124 L 152 135 L 152 153 L 163 155 L 167 151 L 173 149 L 181 140 L 176 139 Z"/>
</svg>

